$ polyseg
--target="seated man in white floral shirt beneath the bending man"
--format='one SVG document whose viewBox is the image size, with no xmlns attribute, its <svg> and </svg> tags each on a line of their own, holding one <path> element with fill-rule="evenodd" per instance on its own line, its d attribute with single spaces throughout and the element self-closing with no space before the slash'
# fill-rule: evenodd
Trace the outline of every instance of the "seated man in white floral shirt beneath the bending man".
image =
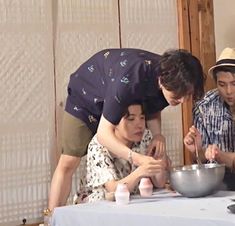
<svg viewBox="0 0 235 226">
<path fill-rule="evenodd" d="M 115 135 L 133 152 L 158 156 L 156 153 L 146 153 L 152 135 L 145 128 L 145 116 L 140 103 L 128 107 L 115 128 Z M 164 187 L 170 161 L 166 153 L 160 155 L 155 157 L 158 165 L 147 163 L 136 167 L 130 161 L 115 157 L 98 142 L 95 135 L 88 146 L 86 164 L 81 164 L 83 169 L 80 172 L 84 175 L 81 175 L 74 203 L 103 200 L 107 193 L 116 190 L 118 183 L 126 183 L 129 191 L 136 193 L 142 177 L 150 177 L 154 187 Z"/>
</svg>

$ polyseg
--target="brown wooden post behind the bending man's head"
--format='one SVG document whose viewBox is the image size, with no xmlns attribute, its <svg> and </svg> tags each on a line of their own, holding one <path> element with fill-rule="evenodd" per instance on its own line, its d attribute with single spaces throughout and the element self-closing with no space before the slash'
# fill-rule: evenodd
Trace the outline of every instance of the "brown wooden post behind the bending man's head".
<svg viewBox="0 0 235 226">
<path fill-rule="evenodd" d="M 215 37 L 213 0 L 177 0 L 180 48 L 189 50 L 198 57 L 205 74 L 215 63 Z M 215 87 L 208 77 L 205 89 Z M 192 101 L 182 105 L 183 136 L 192 125 Z M 192 155 L 184 147 L 184 163 L 192 163 Z"/>
</svg>

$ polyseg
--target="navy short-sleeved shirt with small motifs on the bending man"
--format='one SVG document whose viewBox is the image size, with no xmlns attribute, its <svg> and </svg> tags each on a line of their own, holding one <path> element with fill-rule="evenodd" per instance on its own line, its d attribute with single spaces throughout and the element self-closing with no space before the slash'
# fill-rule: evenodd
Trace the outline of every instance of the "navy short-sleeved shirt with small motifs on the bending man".
<svg viewBox="0 0 235 226">
<path fill-rule="evenodd" d="M 117 125 L 127 107 L 140 101 L 148 116 L 168 106 L 158 86 L 158 54 L 106 49 L 70 76 L 65 110 L 96 132 L 101 115 Z"/>
</svg>

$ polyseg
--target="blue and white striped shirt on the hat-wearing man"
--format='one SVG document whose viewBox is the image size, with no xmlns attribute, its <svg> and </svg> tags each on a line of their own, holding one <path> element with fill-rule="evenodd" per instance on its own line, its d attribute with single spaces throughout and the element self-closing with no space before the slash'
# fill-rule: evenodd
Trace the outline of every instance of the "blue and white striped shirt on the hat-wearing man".
<svg viewBox="0 0 235 226">
<path fill-rule="evenodd" d="M 235 152 L 235 122 L 217 89 L 207 92 L 193 110 L 194 125 L 202 135 L 203 147 L 217 144 L 225 152 Z"/>
</svg>

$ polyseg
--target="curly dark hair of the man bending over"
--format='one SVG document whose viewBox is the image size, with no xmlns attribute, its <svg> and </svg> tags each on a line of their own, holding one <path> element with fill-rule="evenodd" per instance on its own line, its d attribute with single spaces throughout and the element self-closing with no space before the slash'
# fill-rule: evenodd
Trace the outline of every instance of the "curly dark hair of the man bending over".
<svg viewBox="0 0 235 226">
<path fill-rule="evenodd" d="M 166 51 L 159 62 L 160 82 L 176 97 L 192 94 L 193 100 L 204 95 L 205 74 L 200 61 L 184 49 Z"/>
</svg>

